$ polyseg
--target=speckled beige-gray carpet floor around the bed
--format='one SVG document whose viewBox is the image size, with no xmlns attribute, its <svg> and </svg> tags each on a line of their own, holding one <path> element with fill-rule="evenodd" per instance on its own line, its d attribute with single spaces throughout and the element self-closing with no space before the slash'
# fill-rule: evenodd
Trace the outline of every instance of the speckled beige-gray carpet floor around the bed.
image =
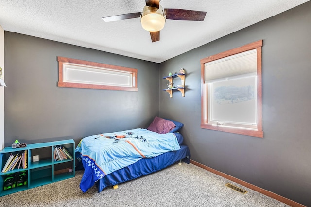
<svg viewBox="0 0 311 207">
<path fill-rule="evenodd" d="M 183 163 L 119 184 L 113 190 L 86 193 L 80 188 L 83 171 L 67 180 L 0 197 L 1 207 L 289 207 L 275 199 L 193 164 Z M 246 194 L 234 191 L 226 183 Z"/>
</svg>

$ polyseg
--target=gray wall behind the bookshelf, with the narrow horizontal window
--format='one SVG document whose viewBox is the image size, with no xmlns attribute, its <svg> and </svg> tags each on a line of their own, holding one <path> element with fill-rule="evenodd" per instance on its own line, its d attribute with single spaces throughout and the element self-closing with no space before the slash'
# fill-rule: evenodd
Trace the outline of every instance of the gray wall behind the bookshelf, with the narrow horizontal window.
<svg viewBox="0 0 311 207">
<path fill-rule="evenodd" d="M 60 88 L 57 56 L 138 69 L 138 92 Z M 5 146 L 148 127 L 159 114 L 158 64 L 5 32 Z"/>
</svg>

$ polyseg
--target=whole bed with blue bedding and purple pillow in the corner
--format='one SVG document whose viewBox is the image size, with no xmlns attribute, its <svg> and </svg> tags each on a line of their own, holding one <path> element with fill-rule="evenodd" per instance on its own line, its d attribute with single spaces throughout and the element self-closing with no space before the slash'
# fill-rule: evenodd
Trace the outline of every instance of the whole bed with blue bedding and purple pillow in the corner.
<svg viewBox="0 0 311 207">
<path fill-rule="evenodd" d="M 155 117 L 147 129 L 83 138 L 75 149 L 76 158 L 84 168 L 80 189 L 86 192 L 95 184 L 101 192 L 109 186 L 154 173 L 176 162 L 189 164 L 189 148 L 178 133 L 181 127 L 180 122 Z"/>
</svg>

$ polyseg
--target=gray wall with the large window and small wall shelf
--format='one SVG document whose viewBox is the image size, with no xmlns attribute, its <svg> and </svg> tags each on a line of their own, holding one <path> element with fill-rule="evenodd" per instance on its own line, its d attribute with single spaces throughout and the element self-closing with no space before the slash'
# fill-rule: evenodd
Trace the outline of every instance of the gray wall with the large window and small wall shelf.
<svg viewBox="0 0 311 207">
<path fill-rule="evenodd" d="M 186 70 L 186 92 L 160 92 L 160 116 L 185 124 L 191 159 L 311 206 L 311 2 L 160 64 L 160 90 L 169 72 Z M 200 59 L 263 39 L 264 138 L 200 128 Z M 178 84 L 178 79 L 175 80 Z"/>
</svg>

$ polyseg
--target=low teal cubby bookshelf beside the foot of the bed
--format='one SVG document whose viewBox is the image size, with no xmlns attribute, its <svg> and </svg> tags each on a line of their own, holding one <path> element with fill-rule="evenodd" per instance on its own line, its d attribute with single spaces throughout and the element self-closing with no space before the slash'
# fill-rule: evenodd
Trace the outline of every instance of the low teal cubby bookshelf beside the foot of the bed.
<svg viewBox="0 0 311 207">
<path fill-rule="evenodd" d="M 56 158 L 55 147 L 59 148 L 60 146 L 67 150 L 69 155 L 72 156 L 72 159 L 66 156 L 61 160 Z M 27 147 L 23 148 L 5 147 L 0 151 L 0 196 L 74 177 L 74 147 L 74 140 L 72 139 L 28 144 Z M 21 167 L 23 165 L 17 163 L 13 170 L 5 172 L 4 167 L 10 155 L 17 153 L 21 155 L 21 157 L 23 157 L 22 153 L 27 155 L 24 156 L 26 159 L 24 167 L 26 168 Z M 34 160 L 34 156 L 38 156 L 39 159 Z M 18 181 L 18 178 L 21 177 L 24 177 L 24 179 L 19 179 Z M 8 188 L 6 183 L 11 183 L 8 182 L 10 179 L 12 180 L 12 185 L 9 185 L 10 187 Z M 21 180 L 24 182 L 20 182 Z M 22 185 L 20 185 L 20 183 L 22 183 Z"/>
</svg>

